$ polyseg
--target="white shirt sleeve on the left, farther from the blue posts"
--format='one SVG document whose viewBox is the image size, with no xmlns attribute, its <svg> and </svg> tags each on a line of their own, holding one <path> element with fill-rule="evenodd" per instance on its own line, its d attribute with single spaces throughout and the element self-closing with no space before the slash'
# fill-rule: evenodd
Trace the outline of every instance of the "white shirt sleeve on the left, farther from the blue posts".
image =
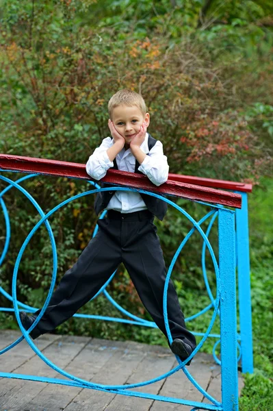
<svg viewBox="0 0 273 411">
<path fill-rule="evenodd" d="M 104 138 L 101 145 L 97 147 L 88 162 L 86 163 L 86 173 L 90 177 L 99 180 L 103 178 L 110 167 L 114 166 L 114 163 L 109 160 L 107 155 L 107 149 L 113 144 L 112 138 Z"/>
</svg>

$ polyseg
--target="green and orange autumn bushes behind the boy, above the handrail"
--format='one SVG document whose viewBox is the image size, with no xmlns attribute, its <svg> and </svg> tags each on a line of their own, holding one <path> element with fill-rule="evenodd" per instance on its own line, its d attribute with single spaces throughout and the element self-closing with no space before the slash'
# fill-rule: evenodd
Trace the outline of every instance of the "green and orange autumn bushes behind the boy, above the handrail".
<svg viewBox="0 0 273 411">
<path fill-rule="evenodd" d="M 200 7 L 198 1 L 194 4 Z M 237 101 L 233 97 L 236 85 L 226 81 L 237 74 L 234 59 L 239 58 L 247 34 L 242 36 L 227 25 L 190 36 L 184 32 L 172 39 L 155 27 L 151 32 L 141 21 L 144 36 L 135 31 L 135 25 L 133 30 L 111 24 L 98 29 L 94 21 L 81 20 L 86 7 L 87 16 L 97 17 L 98 10 L 103 12 L 103 2 L 48 1 L 33 8 L 25 0 L 4 5 L 1 151 L 84 162 L 86 152 L 109 132 L 109 97 L 118 88 L 129 87 L 144 95 L 152 116 L 151 133 L 164 141 L 172 171 L 226 179 L 257 179 L 263 172 L 259 130 L 254 130 L 256 135 L 250 132 L 252 117 L 244 114 L 239 101 L 244 93 L 238 94 Z M 177 3 L 169 10 L 167 1 L 154 5 L 143 1 L 135 11 L 134 1 L 117 1 L 109 10 L 113 18 L 129 21 L 130 27 L 129 10 L 142 10 L 144 16 L 153 12 L 165 20 L 170 13 L 168 27 L 172 27 L 176 24 L 173 13 L 181 18 L 184 6 L 186 10 L 192 7 Z M 192 13 L 197 16 L 196 9 Z M 253 44 L 270 45 L 259 30 Z M 235 47 L 231 61 L 229 46 Z M 223 53 L 223 49 L 228 51 Z M 242 73 L 245 67 L 240 69 Z"/>
</svg>

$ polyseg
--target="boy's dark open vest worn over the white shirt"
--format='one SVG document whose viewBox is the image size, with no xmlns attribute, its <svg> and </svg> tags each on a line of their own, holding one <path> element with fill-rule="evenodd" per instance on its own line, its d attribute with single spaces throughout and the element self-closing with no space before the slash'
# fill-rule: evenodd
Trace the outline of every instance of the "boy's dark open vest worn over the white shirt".
<svg viewBox="0 0 273 411">
<path fill-rule="evenodd" d="M 157 140 L 151 136 L 151 134 L 148 134 L 148 150 L 150 151 Z M 148 153 L 146 153 L 148 154 Z M 138 167 L 140 166 L 140 163 L 138 160 L 135 160 L 135 173 L 143 174 L 141 171 L 138 170 Z M 114 167 L 112 169 L 118 170 L 118 164 L 116 164 L 116 158 L 114 159 Z M 101 183 L 101 188 L 106 188 L 106 187 L 115 187 L 114 184 L 108 184 L 108 183 Z M 96 212 L 96 215 L 101 212 L 104 208 L 107 207 L 107 204 L 109 201 L 112 199 L 115 191 L 101 191 L 98 192 L 96 195 L 96 199 L 94 202 L 94 209 Z M 163 220 L 164 216 L 167 212 L 167 203 L 166 201 L 157 199 L 157 197 L 153 197 L 151 195 L 147 194 L 142 194 L 140 192 L 140 195 L 146 204 L 146 207 L 148 208 L 149 211 L 151 211 L 159 220 Z"/>
</svg>

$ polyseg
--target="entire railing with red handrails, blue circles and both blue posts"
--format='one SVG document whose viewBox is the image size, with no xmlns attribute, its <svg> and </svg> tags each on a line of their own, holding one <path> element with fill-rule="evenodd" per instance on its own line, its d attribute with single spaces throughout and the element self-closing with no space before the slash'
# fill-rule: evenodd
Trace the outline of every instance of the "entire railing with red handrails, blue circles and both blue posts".
<svg viewBox="0 0 273 411">
<path fill-rule="evenodd" d="M 178 176 L 178 175 L 169 175 L 171 179 L 168 179 L 168 182 L 162 184 L 159 187 L 154 186 L 149 182 L 149 180 L 142 175 L 135 175 L 135 173 L 124 173 L 122 171 L 108 171 L 107 175 L 104 177 L 103 181 L 109 182 L 112 184 L 118 184 L 119 186 L 111 187 L 111 188 L 99 188 L 99 185 L 95 182 L 90 180 L 90 177 L 86 174 L 85 166 L 83 164 L 73 164 L 73 163 L 66 163 L 66 162 L 55 162 L 53 160 L 42 160 L 42 159 L 34 159 L 34 158 L 22 158 L 18 156 L 8 156 L 8 155 L 0 155 L 0 171 L 3 173 L 0 174 L 0 179 L 7 184 L 5 189 L 0 193 L 0 202 L 3 209 L 4 217 L 5 217 L 5 225 L 6 225 L 6 236 L 5 236 L 5 245 L 3 248 L 3 253 L 0 258 L 0 266 L 3 263 L 3 260 L 8 252 L 8 246 L 10 242 L 10 221 L 8 218 L 8 210 L 5 206 L 4 202 L 4 195 L 10 190 L 11 188 L 16 188 L 17 190 L 21 191 L 23 195 L 31 203 L 35 206 L 36 210 L 40 214 L 40 221 L 36 223 L 36 225 L 31 229 L 25 242 L 23 243 L 21 250 L 18 253 L 18 257 L 16 259 L 16 263 L 14 266 L 14 275 L 12 279 L 12 295 L 9 295 L 8 292 L 0 288 L 0 292 L 10 301 L 13 302 L 14 308 L 1 308 L 2 311 L 14 311 L 16 315 L 16 319 L 18 321 L 18 325 L 21 329 L 22 336 L 18 338 L 18 340 L 11 343 L 8 347 L 0 351 L 4 353 L 10 349 L 12 349 L 15 345 L 21 342 L 23 338 L 27 340 L 31 348 L 37 353 L 44 362 L 46 362 L 49 366 L 51 366 L 55 371 L 58 371 L 61 375 L 68 377 L 70 380 L 66 379 L 50 379 L 46 377 L 34 377 L 34 376 L 26 376 L 26 375 L 17 375 L 13 373 L 1 373 L 0 377 L 13 377 L 13 378 L 23 378 L 23 379 L 32 379 L 36 381 L 42 382 L 57 382 L 59 384 L 66 384 L 72 386 L 79 386 L 83 388 L 94 388 L 98 390 L 105 390 L 107 392 L 112 393 L 119 393 L 123 395 L 133 395 L 137 397 L 145 397 L 149 399 L 158 399 L 160 401 L 170 401 L 175 403 L 181 403 L 187 406 L 192 406 L 194 409 L 206 409 L 206 410 L 224 410 L 224 411 L 231 411 L 231 410 L 238 410 L 238 387 L 237 387 L 237 360 L 240 358 L 242 354 L 242 368 L 243 371 L 252 372 L 252 332 L 251 332 L 251 309 L 250 309 L 250 283 L 249 283 L 249 252 L 248 252 L 248 223 L 247 223 L 247 203 L 246 203 L 246 192 L 251 190 L 249 185 L 244 184 L 235 184 L 232 182 L 222 182 L 222 184 L 229 183 L 229 186 L 225 186 L 229 190 L 236 188 L 235 190 L 238 192 L 226 192 L 223 190 L 216 190 L 216 188 L 211 188 L 209 185 L 217 184 L 217 180 L 209 180 L 206 179 L 205 182 L 203 179 L 200 179 L 198 182 L 198 177 L 190 177 L 194 180 L 194 184 L 189 184 L 188 182 L 183 182 L 181 179 L 189 178 L 187 176 Z M 8 171 L 13 172 L 25 172 L 31 173 L 24 177 L 21 177 L 17 181 L 13 181 L 12 179 L 5 177 Z M 3 175 L 5 174 L 5 175 Z M 58 204 L 47 214 L 44 214 L 42 208 L 40 208 L 39 204 L 36 202 L 34 197 L 32 197 L 29 192 L 25 190 L 21 186 L 21 183 L 25 181 L 25 179 L 29 179 L 32 177 L 36 177 L 37 174 L 46 174 L 46 175 L 57 175 L 63 177 L 70 177 L 70 178 L 82 178 L 87 179 L 94 189 L 88 190 L 86 192 L 81 192 L 78 195 L 70 197 L 66 199 L 62 203 Z M 175 181 L 175 179 L 180 181 Z M 199 183 L 199 184 L 196 184 Z M 206 184 L 206 186 L 203 186 Z M 221 182 L 218 182 L 220 185 Z M 131 188 L 129 188 L 131 187 Z M 133 188 L 132 188 L 133 187 Z M 216 187 L 214 185 L 213 187 Z M 179 245 L 174 257 L 172 258 L 172 262 L 168 269 L 167 277 L 166 277 L 166 284 L 164 288 L 164 321 L 166 325 L 166 330 L 168 334 L 169 343 L 172 343 L 172 336 L 170 334 L 170 329 L 168 325 L 168 312 L 167 312 L 167 290 L 168 290 L 168 282 L 170 281 L 170 277 L 172 274 L 173 266 L 183 250 L 183 247 L 187 244 L 187 241 L 190 239 L 194 232 L 198 232 L 198 234 L 203 238 L 203 250 L 202 250 L 202 266 L 203 266 L 203 277 L 205 281 L 205 286 L 207 288 L 207 293 L 209 295 L 210 303 L 207 307 L 203 308 L 200 312 L 190 316 L 186 319 L 186 321 L 191 321 L 192 319 L 196 318 L 196 316 L 200 316 L 207 312 L 208 310 L 212 311 L 211 314 L 211 321 L 209 323 L 209 327 L 203 333 L 194 333 L 196 335 L 201 336 L 200 343 L 198 343 L 196 349 L 191 354 L 190 358 L 192 358 L 196 352 L 202 347 L 203 343 L 208 337 L 218 338 L 216 344 L 213 348 L 213 356 L 216 359 L 216 362 L 220 363 L 221 365 L 221 373 L 222 373 L 222 402 L 220 403 L 216 399 L 214 399 L 206 390 L 196 382 L 196 380 L 192 377 L 189 371 L 185 369 L 185 362 L 181 362 L 181 360 L 177 357 L 178 365 L 172 371 L 168 373 L 164 373 L 163 375 L 159 375 L 155 379 L 151 379 L 145 382 L 139 382 L 138 384 L 130 384 L 126 386 L 105 386 L 103 384 L 94 384 L 92 382 L 88 382 L 86 380 L 80 379 L 75 377 L 74 375 L 66 373 L 66 371 L 60 369 L 57 365 L 53 364 L 50 360 L 48 360 L 40 350 L 34 345 L 33 341 L 29 337 L 29 332 L 36 326 L 36 323 L 40 320 L 41 316 L 44 314 L 49 301 L 51 299 L 51 295 L 53 294 L 53 289 L 55 286 L 55 280 L 57 275 L 57 250 L 55 247 L 55 239 L 53 236 L 53 232 L 50 226 L 50 217 L 60 208 L 66 206 L 66 204 L 79 199 L 80 197 L 86 195 L 92 195 L 100 190 L 138 190 L 138 192 L 144 192 L 145 194 L 160 198 L 166 201 L 170 206 L 176 208 L 179 212 L 185 216 L 191 223 L 192 229 L 190 232 L 187 233 L 181 244 Z M 245 192 L 244 192 L 245 191 Z M 162 197 L 162 195 L 172 195 L 182 198 L 187 198 L 192 201 L 198 201 L 203 204 L 204 209 L 209 206 L 209 212 L 205 212 L 205 215 L 200 219 L 200 221 L 196 221 L 195 219 L 190 216 L 183 208 L 177 206 L 176 203 L 167 199 L 166 197 Z M 209 204 L 207 203 L 209 201 Z M 242 208 L 241 207 L 242 201 Z M 230 210 L 225 208 L 225 206 L 229 206 L 235 208 L 235 210 Z M 101 214 L 100 218 L 103 218 L 105 212 Z M 211 243 L 209 242 L 209 233 L 211 231 L 211 227 L 213 222 L 218 217 L 218 246 L 219 246 L 219 258 L 218 261 L 216 259 L 215 253 L 213 251 L 213 247 L 211 247 Z M 203 231 L 202 224 L 205 221 L 209 222 L 207 227 L 207 232 Z M 235 231 L 235 220 L 237 229 Z M 27 247 L 27 244 L 31 240 L 32 236 L 34 236 L 37 229 L 44 224 L 47 227 L 47 231 L 49 233 L 49 238 L 51 241 L 52 246 L 52 253 L 53 253 L 53 274 L 51 279 L 51 286 L 49 288 L 49 293 L 47 295 L 47 299 L 44 302 L 44 306 L 42 307 L 42 311 L 40 312 L 39 316 L 36 319 L 36 322 L 31 326 L 28 331 L 25 331 L 23 325 L 21 324 L 20 317 L 18 315 L 19 310 L 25 310 L 27 312 L 35 312 L 38 308 L 34 308 L 31 306 L 27 306 L 24 303 L 21 303 L 16 298 L 16 279 L 18 275 L 18 268 L 21 262 L 21 258 Z M 94 230 L 94 234 L 96 234 L 96 229 Z M 213 297 L 211 289 L 209 287 L 209 282 L 207 280 L 207 273 L 205 267 L 205 253 L 206 249 L 209 251 L 211 260 L 213 262 L 213 267 L 216 275 L 216 297 Z M 237 252 L 236 252 L 237 249 Z M 237 256 L 237 257 L 236 257 Z M 236 276 L 235 276 L 235 268 L 236 268 L 236 260 L 238 266 L 238 284 L 239 284 L 239 314 L 240 314 L 240 329 L 241 335 L 237 334 L 237 318 L 236 318 Z M 108 316 L 95 316 L 95 315 L 88 315 L 88 314 L 75 314 L 75 316 L 79 317 L 87 317 L 90 319 L 103 319 L 107 321 L 119 321 L 122 323 L 133 323 L 135 325 L 142 325 L 145 327 L 157 327 L 155 323 L 152 321 L 146 321 L 145 319 L 141 319 L 138 316 L 135 316 L 122 308 L 106 290 L 107 285 L 111 282 L 112 278 L 109 278 L 107 283 L 99 290 L 99 292 L 93 297 L 95 298 L 101 292 L 104 293 L 105 297 L 114 304 L 114 306 L 129 317 L 129 319 L 123 318 L 114 318 Z M 216 320 L 216 317 L 220 314 L 220 334 L 211 334 L 211 329 L 213 327 L 213 323 Z M 241 354 L 237 358 L 237 346 L 238 341 L 241 342 Z M 218 360 L 216 357 L 216 347 L 220 343 L 221 347 L 221 361 Z M 189 358 L 189 359 L 190 359 Z M 166 398 L 160 395 L 149 395 L 146 393 L 140 393 L 138 391 L 133 391 L 133 388 L 145 386 L 148 384 L 153 384 L 153 382 L 157 382 L 160 379 L 164 379 L 182 369 L 185 375 L 190 379 L 192 384 L 196 386 L 196 388 L 202 393 L 209 401 L 209 404 L 206 403 L 198 403 L 196 401 L 187 401 L 184 399 L 174 399 L 174 398 Z"/>
</svg>

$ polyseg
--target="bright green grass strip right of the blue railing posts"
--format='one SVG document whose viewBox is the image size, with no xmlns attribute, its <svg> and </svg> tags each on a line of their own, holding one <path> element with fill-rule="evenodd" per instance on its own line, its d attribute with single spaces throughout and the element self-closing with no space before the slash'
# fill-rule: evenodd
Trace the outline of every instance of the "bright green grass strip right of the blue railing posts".
<svg viewBox="0 0 273 411">
<path fill-rule="evenodd" d="M 245 375 L 240 411 L 273 410 L 273 181 L 263 179 L 249 196 L 254 366 Z"/>
</svg>

